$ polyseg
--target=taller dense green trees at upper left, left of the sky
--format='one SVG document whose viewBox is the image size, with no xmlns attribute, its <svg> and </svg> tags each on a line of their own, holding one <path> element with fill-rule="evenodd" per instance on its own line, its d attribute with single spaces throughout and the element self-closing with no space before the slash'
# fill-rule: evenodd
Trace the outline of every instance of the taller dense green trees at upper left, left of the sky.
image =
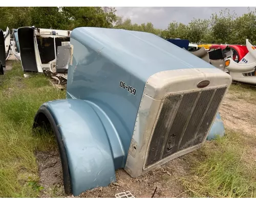
<svg viewBox="0 0 256 204">
<path fill-rule="evenodd" d="M 76 27 L 112 28 L 112 7 L 0 7 L 0 27 L 35 25 L 37 28 L 73 30 Z"/>
</svg>

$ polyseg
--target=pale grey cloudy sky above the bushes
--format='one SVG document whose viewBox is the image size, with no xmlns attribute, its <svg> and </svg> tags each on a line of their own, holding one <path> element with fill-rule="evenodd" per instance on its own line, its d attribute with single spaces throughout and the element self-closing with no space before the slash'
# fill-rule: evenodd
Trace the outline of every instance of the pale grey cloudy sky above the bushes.
<svg viewBox="0 0 256 204">
<path fill-rule="evenodd" d="M 116 14 L 130 18 L 132 23 L 152 22 L 157 29 L 166 29 L 173 20 L 187 24 L 193 18 L 208 19 L 212 13 L 228 8 L 238 16 L 247 13 L 247 7 L 116 7 Z M 250 7 L 254 10 L 256 7 Z"/>
</svg>

